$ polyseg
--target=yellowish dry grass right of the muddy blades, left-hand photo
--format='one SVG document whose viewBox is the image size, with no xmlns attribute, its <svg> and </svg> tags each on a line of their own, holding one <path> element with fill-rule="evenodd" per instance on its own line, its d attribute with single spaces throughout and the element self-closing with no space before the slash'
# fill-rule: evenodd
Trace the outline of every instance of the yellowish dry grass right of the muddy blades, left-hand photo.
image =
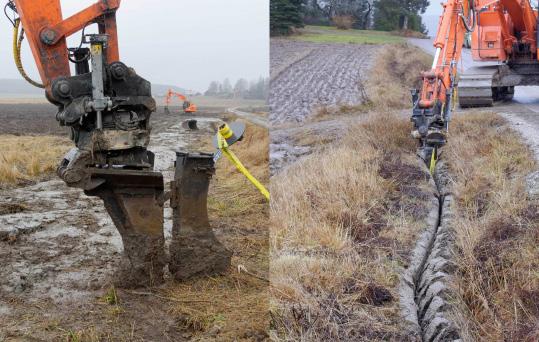
<svg viewBox="0 0 539 342">
<path fill-rule="evenodd" d="M 248 125 L 234 153 L 263 184 L 269 183 L 269 137 Z M 269 205 L 226 159 L 217 164 L 209 197 L 212 226 L 234 252 L 232 268 L 222 277 L 175 284 L 165 291 L 172 313 L 192 340 L 257 341 L 267 338 Z"/>
</svg>

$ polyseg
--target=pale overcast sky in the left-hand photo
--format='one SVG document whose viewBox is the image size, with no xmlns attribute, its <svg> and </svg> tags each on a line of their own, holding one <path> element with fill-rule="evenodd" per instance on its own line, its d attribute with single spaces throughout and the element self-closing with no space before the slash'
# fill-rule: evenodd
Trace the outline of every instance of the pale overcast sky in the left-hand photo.
<svg viewBox="0 0 539 342">
<path fill-rule="evenodd" d="M 95 2 L 62 0 L 64 17 Z M 121 61 L 153 83 L 204 91 L 214 80 L 269 74 L 269 0 L 123 0 L 117 14 Z M 11 34 L 2 13 L 0 78 L 20 78 Z M 69 45 L 79 41 L 75 34 Z M 23 63 L 37 79 L 25 45 Z"/>
</svg>

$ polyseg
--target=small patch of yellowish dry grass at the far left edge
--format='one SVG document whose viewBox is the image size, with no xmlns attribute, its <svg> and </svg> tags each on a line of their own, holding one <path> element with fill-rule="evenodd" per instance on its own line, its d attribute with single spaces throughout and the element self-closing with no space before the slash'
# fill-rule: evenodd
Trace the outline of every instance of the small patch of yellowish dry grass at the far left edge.
<svg viewBox="0 0 539 342">
<path fill-rule="evenodd" d="M 72 143 L 56 136 L 0 136 L 0 188 L 49 177 Z"/>
</svg>

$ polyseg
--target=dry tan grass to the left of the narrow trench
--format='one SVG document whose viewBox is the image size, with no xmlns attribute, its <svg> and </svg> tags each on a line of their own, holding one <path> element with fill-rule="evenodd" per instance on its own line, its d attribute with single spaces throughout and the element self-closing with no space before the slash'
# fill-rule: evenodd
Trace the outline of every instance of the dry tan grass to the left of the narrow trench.
<svg viewBox="0 0 539 342">
<path fill-rule="evenodd" d="M 396 286 L 429 178 L 409 129 L 372 115 L 273 179 L 275 340 L 406 340 Z"/>
</svg>

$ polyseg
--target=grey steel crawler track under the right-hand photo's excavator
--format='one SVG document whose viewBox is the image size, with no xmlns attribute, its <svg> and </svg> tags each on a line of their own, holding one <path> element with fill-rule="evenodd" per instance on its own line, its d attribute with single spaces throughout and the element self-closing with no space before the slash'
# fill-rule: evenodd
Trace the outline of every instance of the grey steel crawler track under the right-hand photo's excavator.
<svg viewBox="0 0 539 342">
<path fill-rule="evenodd" d="M 459 78 L 459 104 L 462 108 L 492 107 L 496 99 L 497 65 L 473 67 Z"/>
</svg>

